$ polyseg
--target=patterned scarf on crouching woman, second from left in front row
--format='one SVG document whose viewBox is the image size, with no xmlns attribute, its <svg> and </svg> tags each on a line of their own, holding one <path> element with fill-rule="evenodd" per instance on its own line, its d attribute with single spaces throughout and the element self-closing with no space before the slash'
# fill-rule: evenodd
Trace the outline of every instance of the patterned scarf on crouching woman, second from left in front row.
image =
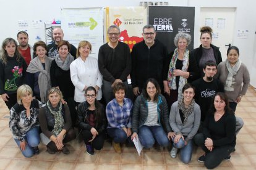
<svg viewBox="0 0 256 170">
<path fill-rule="evenodd" d="M 51 102 L 47 102 L 47 107 L 49 109 L 49 111 L 51 112 L 51 114 L 53 114 L 54 116 L 54 120 L 55 120 L 55 124 L 53 127 L 53 134 L 54 136 L 58 136 L 59 133 L 62 131 L 62 127 L 64 126 L 65 122 L 64 122 L 64 118 L 61 114 L 61 110 L 62 110 L 62 104 L 61 102 L 59 102 L 58 106 L 56 108 L 53 108 L 53 106 L 51 105 Z M 65 136 L 63 136 L 64 139 Z"/>
</svg>

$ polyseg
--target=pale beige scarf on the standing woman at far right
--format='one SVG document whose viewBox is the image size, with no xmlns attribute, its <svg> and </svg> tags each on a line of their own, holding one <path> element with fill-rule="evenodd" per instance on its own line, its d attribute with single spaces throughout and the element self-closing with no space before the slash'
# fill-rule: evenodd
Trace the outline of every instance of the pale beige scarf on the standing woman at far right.
<svg viewBox="0 0 256 170">
<path fill-rule="evenodd" d="M 231 67 L 228 59 L 226 59 L 225 64 L 228 69 L 228 77 L 226 79 L 226 84 L 224 86 L 225 91 L 234 91 L 233 76 L 235 76 L 237 74 L 237 71 L 241 67 L 241 63 L 242 62 L 238 59 L 236 64 L 233 67 Z"/>
</svg>

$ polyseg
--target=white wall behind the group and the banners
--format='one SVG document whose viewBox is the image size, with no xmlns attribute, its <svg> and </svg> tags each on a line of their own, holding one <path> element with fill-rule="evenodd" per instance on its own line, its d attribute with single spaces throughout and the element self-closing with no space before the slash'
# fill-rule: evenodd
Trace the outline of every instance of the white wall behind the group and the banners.
<svg viewBox="0 0 256 170">
<path fill-rule="evenodd" d="M 52 21 L 60 19 L 60 9 L 65 7 L 104 7 L 104 6 L 139 6 L 141 0 L 93 0 L 93 1 L 2 1 L 0 2 L 0 42 L 7 37 L 16 39 L 17 20 L 43 20 Z M 165 0 L 166 1 L 166 0 Z M 153 1 L 156 2 L 156 1 Z M 233 45 L 239 47 L 240 57 L 250 71 L 251 84 L 256 87 L 256 1 L 255 0 L 168 0 L 169 6 L 194 6 L 195 7 L 195 42 L 198 44 L 200 29 L 200 7 L 236 7 L 236 21 L 234 28 Z M 249 30 L 248 39 L 238 39 L 237 30 Z M 35 42 L 35 37 L 30 37 L 30 44 Z"/>
</svg>

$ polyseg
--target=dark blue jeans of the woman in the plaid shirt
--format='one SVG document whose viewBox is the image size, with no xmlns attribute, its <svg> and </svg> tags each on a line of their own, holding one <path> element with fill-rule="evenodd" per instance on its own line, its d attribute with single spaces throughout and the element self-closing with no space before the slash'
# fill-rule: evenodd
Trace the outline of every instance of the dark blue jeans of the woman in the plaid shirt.
<svg viewBox="0 0 256 170">
<path fill-rule="evenodd" d="M 117 127 L 108 128 L 107 132 L 108 132 L 109 137 L 111 137 L 116 144 L 124 143 L 124 142 L 126 142 L 126 139 L 128 139 L 126 132 Z"/>
</svg>

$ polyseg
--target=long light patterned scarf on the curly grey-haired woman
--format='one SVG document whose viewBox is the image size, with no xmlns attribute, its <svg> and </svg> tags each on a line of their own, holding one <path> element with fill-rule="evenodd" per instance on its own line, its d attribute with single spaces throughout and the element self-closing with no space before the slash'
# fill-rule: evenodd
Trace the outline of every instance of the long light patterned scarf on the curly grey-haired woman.
<svg viewBox="0 0 256 170">
<path fill-rule="evenodd" d="M 178 57 L 178 49 L 176 48 L 173 53 L 173 58 L 171 59 L 170 65 L 169 65 L 169 71 L 168 71 L 168 86 L 170 89 L 176 90 L 176 76 L 173 75 L 173 70 L 175 70 L 175 65 Z M 182 71 L 187 71 L 189 68 L 189 50 L 186 49 L 183 56 L 183 66 Z M 187 83 L 187 79 L 179 76 L 179 86 L 178 86 L 178 100 L 182 98 L 182 88 Z"/>
</svg>

